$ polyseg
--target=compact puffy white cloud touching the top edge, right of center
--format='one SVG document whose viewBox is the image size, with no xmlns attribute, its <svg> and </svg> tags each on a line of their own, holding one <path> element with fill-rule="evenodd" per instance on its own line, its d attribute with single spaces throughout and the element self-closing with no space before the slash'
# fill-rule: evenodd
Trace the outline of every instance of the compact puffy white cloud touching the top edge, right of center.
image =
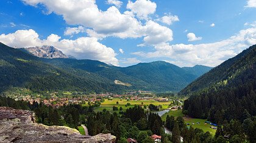
<svg viewBox="0 0 256 143">
<path fill-rule="evenodd" d="M 127 9 L 137 15 L 140 19 L 148 19 L 148 15 L 155 13 L 157 4 L 149 0 L 137 0 L 135 2 L 128 1 Z"/>
</svg>

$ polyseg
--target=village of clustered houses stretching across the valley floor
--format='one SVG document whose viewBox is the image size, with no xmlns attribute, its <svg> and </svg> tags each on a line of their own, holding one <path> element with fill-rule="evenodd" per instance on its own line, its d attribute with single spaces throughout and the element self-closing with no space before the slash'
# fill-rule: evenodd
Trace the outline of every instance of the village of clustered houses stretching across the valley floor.
<svg viewBox="0 0 256 143">
<path fill-rule="evenodd" d="M 69 104 L 81 104 L 81 105 L 92 105 L 96 104 L 96 102 L 101 102 L 102 105 L 104 105 L 104 101 L 119 101 L 123 100 L 126 102 L 132 102 L 132 104 L 141 104 L 141 102 L 144 102 L 144 105 L 147 105 L 147 103 L 152 102 L 152 104 L 157 103 L 158 107 L 161 106 L 161 108 L 164 106 L 163 110 L 169 107 L 169 104 L 172 102 L 176 102 L 175 105 L 172 106 L 169 109 L 177 109 L 178 107 L 181 108 L 182 101 L 178 99 L 171 99 L 171 98 L 163 98 L 158 97 L 151 93 L 150 91 L 130 91 L 125 94 L 113 94 L 113 93 L 101 93 L 101 94 L 91 94 L 91 95 L 82 95 L 82 94 L 74 94 L 72 92 L 63 92 L 63 94 L 60 96 L 57 92 L 48 94 L 48 96 L 44 95 L 14 95 L 11 98 L 15 99 L 16 101 L 27 101 L 30 104 L 33 104 L 33 102 L 37 102 L 38 104 L 43 103 L 44 105 L 51 106 L 53 108 L 59 108 L 63 105 L 69 105 Z M 136 102 L 137 101 L 137 102 Z M 141 102 L 140 102 L 141 101 Z M 119 101 L 120 102 L 120 101 Z M 165 105 L 168 105 L 166 107 Z"/>
</svg>

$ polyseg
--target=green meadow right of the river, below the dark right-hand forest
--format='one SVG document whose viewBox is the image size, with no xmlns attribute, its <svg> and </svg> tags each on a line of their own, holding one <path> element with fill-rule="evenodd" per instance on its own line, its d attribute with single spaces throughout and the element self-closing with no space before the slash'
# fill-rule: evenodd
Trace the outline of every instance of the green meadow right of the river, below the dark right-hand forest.
<svg viewBox="0 0 256 143">
<path fill-rule="evenodd" d="M 162 116 L 162 120 L 165 121 L 166 120 L 166 116 L 174 116 L 177 118 L 177 116 L 183 116 L 182 114 L 182 110 L 175 110 L 172 111 L 170 110 L 168 113 L 166 113 L 165 115 Z M 206 119 L 197 119 L 197 118 L 187 118 L 187 117 L 183 117 L 184 121 L 186 124 L 190 124 L 193 128 L 201 128 L 203 131 L 209 131 L 212 135 L 215 135 L 216 130 L 213 128 L 210 128 L 212 125 L 210 124 L 206 124 L 205 125 L 205 121 L 207 121 Z M 196 124 L 197 122 L 199 122 L 200 124 Z M 194 123 L 194 125 L 192 125 L 192 123 Z M 190 126 L 188 125 L 188 126 Z"/>
</svg>

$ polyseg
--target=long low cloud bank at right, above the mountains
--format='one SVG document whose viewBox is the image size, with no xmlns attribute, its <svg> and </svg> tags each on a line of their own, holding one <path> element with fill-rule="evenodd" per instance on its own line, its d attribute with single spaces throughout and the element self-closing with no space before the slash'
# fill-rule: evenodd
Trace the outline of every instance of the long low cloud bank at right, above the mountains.
<svg viewBox="0 0 256 143">
<path fill-rule="evenodd" d="M 135 52 L 133 55 L 143 58 L 168 58 L 167 61 L 181 67 L 196 64 L 215 67 L 254 44 L 256 27 L 251 27 L 219 42 L 196 45 L 165 43 L 156 45 L 155 52 Z"/>
</svg>

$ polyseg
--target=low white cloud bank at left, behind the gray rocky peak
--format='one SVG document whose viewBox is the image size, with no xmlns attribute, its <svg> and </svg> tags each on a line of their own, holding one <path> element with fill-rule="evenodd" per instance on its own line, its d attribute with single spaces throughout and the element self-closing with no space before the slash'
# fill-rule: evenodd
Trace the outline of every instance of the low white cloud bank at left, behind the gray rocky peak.
<svg viewBox="0 0 256 143">
<path fill-rule="evenodd" d="M 40 39 L 38 34 L 30 30 L 17 30 L 15 33 L 0 35 L 0 42 L 10 47 L 32 47 L 41 45 L 53 45 L 67 55 L 73 55 L 77 59 L 95 59 L 102 62 L 118 65 L 115 51 L 98 42 L 96 38 L 81 37 L 75 40 L 62 39 L 58 35 L 49 35 L 47 39 Z"/>
</svg>

